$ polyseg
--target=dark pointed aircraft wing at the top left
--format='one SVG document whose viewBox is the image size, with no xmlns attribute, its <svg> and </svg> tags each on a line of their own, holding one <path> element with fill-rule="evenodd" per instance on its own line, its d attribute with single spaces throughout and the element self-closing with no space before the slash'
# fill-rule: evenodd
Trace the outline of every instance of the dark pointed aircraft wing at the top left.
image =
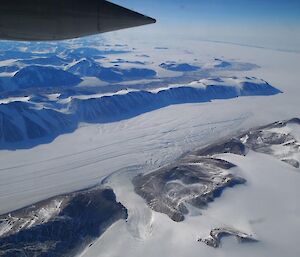
<svg viewBox="0 0 300 257">
<path fill-rule="evenodd" d="M 155 23 L 105 0 L 2 0 L 0 39 L 45 41 Z"/>
</svg>

